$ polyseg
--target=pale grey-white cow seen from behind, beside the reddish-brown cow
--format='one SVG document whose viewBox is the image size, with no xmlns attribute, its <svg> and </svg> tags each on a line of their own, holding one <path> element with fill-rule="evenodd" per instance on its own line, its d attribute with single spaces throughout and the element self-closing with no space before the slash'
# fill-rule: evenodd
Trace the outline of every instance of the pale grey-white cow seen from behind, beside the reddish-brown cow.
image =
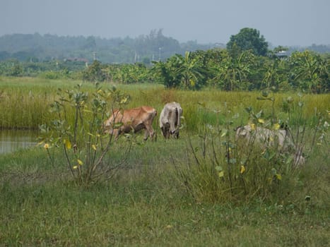
<svg viewBox="0 0 330 247">
<path fill-rule="evenodd" d="M 182 108 L 179 103 L 171 102 L 165 104 L 159 118 L 159 126 L 165 138 L 170 138 L 171 135 L 179 138 L 181 116 Z"/>
</svg>

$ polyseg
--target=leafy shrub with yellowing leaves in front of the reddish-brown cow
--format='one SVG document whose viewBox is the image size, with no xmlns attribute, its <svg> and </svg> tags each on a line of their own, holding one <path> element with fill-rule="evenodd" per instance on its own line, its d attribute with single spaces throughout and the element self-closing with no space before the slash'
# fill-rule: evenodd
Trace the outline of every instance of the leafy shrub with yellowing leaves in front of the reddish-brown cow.
<svg viewBox="0 0 330 247">
<path fill-rule="evenodd" d="M 74 90 L 59 89 L 58 96 L 51 104 L 51 111 L 57 118 L 40 126 L 40 144 L 47 150 L 51 164 L 54 164 L 54 157 L 49 149 L 61 147 L 69 171 L 78 184 L 110 179 L 120 164 L 111 164 L 107 156 L 112 135 L 104 133 L 103 121 L 115 107 L 122 108 L 128 96 L 115 88 L 102 90 L 98 84 L 92 95 L 77 85 Z M 127 148 L 129 150 L 129 146 Z"/>
</svg>

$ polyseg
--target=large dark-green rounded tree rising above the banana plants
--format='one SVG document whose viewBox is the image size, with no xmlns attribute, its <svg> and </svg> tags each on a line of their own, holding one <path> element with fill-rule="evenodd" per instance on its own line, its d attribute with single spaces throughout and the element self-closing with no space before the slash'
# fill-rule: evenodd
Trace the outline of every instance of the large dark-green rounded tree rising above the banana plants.
<svg viewBox="0 0 330 247">
<path fill-rule="evenodd" d="M 258 56 L 265 56 L 268 51 L 268 43 L 260 32 L 253 28 L 242 28 L 237 35 L 231 35 L 227 43 L 229 52 L 232 49 L 240 49 L 241 52 L 252 49 L 253 53 Z"/>
</svg>

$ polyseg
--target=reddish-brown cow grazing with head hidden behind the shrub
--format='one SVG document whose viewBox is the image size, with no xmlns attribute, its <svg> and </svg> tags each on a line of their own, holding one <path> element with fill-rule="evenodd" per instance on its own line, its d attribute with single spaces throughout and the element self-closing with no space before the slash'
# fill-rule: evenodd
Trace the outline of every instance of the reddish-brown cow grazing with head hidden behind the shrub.
<svg viewBox="0 0 330 247">
<path fill-rule="evenodd" d="M 137 107 L 134 109 L 126 109 L 124 111 L 114 110 L 112 115 L 105 121 L 105 133 L 110 133 L 117 139 L 121 133 L 134 133 L 146 129 L 144 140 L 150 136 L 153 138 L 153 119 L 157 115 L 157 111 L 153 107 Z"/>
</svg>

